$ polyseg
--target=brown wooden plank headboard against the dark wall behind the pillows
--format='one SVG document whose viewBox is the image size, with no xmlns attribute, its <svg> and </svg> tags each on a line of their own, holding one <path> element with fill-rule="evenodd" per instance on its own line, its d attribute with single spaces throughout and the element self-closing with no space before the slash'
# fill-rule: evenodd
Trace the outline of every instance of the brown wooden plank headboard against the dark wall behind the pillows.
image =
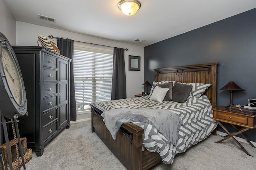
<svg viewBox="0 0 256 170">
<path fill-rule="evenodd" d="M 217 67 L 218 63 L 195 64 L 156 68 L 155 81 L 177 81 L 182 83 L 210 83 L 212 86 L 206 91 L 212 107 L 216 107 L 217 98 Z"/>
</svg>

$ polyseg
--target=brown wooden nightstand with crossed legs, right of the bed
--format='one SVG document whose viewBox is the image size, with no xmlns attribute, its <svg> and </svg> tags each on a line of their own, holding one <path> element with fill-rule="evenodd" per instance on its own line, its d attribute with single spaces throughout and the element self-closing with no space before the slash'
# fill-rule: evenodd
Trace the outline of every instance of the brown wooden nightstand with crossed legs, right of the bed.
<svg viewBox="0 0 256 170">
<path fill-rule="evenodd" d="M 217 141 L 216 143 L 220 143 L 222 141 L 225 141 L 226 139 L 229 139 L 230 137 L 244 150 L 244 152 L 248 155 L 249 152 L 247 152 L 246 149 L 234 138 L 234 136 L 240 134 L 252 147 L 255 148 L 255 146 L 242 134 L 242 132 L 245 132 L 249 129 L 255 129 L 256 128 L 256 116 L 248 115 L 246 113 L 241 113 L 238 111 L 234 111 L 231 109 L 226 108 L 225 106 L 219 106 L 212 108 L 213 110 L 213 118 L 218 122 L 218 124 L 228 133 L 228 135 L 224 136 L 224 139 L 221 139 L 220 141 Z M 229 123 L 234 127 L 236 131 L 230 133 L 221 122 Z M 234 125 L 241 126 L 241 129 L 237 129 Z M 252 155 L 250 155 L 252 156 Z"/>
</svg>

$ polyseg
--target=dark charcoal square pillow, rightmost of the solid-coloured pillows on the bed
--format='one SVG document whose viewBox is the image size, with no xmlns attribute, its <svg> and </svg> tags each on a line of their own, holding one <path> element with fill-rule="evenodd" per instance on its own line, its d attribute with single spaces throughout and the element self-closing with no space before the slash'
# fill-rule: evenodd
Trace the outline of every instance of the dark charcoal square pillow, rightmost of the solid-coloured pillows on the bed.
<svg viewBox="0 0 256 170">
<path fill-rule="evenodd" d="M 174 86 L 172 88 L 172 101 L 179 103 L 186 102 L 191 89 L 191 84 L 174 83 Z"/>
</svg>

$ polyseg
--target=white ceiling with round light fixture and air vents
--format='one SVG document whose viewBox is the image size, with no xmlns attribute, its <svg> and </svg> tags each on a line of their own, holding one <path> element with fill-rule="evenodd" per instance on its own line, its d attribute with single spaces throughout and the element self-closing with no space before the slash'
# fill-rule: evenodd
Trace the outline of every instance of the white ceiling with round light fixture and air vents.
<svg viewBox="0 0 256 170">
<path fill-rule="evenodd" d="M 140 46 L 256 8 L 256 0 L 140 0 L 140 10 L 126 16 L 119 1 L 5 0 L 17 21 Z M 37 14 L 56 21 L 40 20 Z"/>
</svg>

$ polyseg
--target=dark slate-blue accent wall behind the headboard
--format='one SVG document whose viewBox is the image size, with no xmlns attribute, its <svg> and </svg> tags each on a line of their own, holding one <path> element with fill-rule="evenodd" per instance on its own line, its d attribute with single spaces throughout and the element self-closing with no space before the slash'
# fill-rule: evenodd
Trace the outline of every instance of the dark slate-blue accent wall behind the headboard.
<svg viewBox="0 0 256 170">
<path fill-rule="evenodd" d="M 231 80 L 246 89 L 233 92 L 233 104 L 256 99 L 256 8 L 144 47 L 144 81 L 154 81 L 154 68 L 213 62 L 217 89 Z M 218 90 L 217 106 L 228 103 L 229 91 Z M 255 130 L 246 136 L 256 142 Z"/>
</svg>

